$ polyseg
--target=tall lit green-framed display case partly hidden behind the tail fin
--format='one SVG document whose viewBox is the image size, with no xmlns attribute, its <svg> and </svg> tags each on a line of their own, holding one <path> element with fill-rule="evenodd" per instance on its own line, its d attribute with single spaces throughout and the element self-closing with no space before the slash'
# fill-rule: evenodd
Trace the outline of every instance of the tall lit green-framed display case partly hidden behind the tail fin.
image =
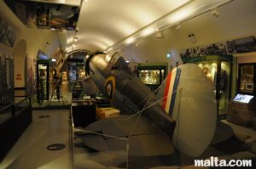
<svg viewBox="0 0 256 169">
<path fill-rule="evenodd" d="M 232 55 L 207 55 L 183 60 L 184 64 L 195 63 L 206 74 L 215 93 L 218 115 L 226 115 L 228 111 L 228 103 L 231 98 L 232 60 Z"/>
</svg>

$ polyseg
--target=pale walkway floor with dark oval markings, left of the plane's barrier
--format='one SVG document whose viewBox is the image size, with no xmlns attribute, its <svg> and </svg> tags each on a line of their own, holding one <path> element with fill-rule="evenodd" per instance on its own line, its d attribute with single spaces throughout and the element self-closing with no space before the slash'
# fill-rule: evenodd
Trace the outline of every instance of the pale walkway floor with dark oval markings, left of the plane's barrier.
<svg viewBox="0 0 256 169">
<path fill-rule="evenodd" d="M 32 124 L 3 159 L 0 168 L 73 168 L 69 110 L 33 110 L 32 115 Z M 40 115 L 49 115 L 49 118 L 39 118 Z M 46 149 L 49 144 L 66 147 L 50 151 Z"/>
</svg>

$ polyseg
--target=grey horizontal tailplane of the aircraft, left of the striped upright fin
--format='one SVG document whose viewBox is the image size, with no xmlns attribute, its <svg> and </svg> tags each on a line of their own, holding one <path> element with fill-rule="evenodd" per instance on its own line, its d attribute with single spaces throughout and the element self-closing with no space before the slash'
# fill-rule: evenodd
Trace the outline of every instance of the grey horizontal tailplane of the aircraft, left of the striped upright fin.
<svg viewBox="0 0 256 169">
<path fill-rule="evenodd" d="M 127 148 L 132 156 L 171 155 L 174 147 L 170 136 L 143 115 L 138 121 L 137 117 L 121 115 L 96 121 L 85 127 L 83 143 L 92 149 L 120 155 L 127 155 Z"/>
</svg>

